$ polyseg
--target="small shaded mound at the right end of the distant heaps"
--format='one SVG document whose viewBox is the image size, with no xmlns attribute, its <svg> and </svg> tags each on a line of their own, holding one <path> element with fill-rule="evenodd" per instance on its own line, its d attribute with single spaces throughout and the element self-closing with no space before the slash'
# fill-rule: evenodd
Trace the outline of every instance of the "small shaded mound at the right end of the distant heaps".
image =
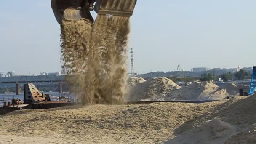
<svg viewBox="0 0 256 144">
<path fill-rule="evenodd" d="M 229 95 L 239 95 L 239 89 L 243 88 L 245 90 L 249 90 L 250 86 L 236 83 L 227 83 L 223 88 L 226 89 Z"/>
</svg>

